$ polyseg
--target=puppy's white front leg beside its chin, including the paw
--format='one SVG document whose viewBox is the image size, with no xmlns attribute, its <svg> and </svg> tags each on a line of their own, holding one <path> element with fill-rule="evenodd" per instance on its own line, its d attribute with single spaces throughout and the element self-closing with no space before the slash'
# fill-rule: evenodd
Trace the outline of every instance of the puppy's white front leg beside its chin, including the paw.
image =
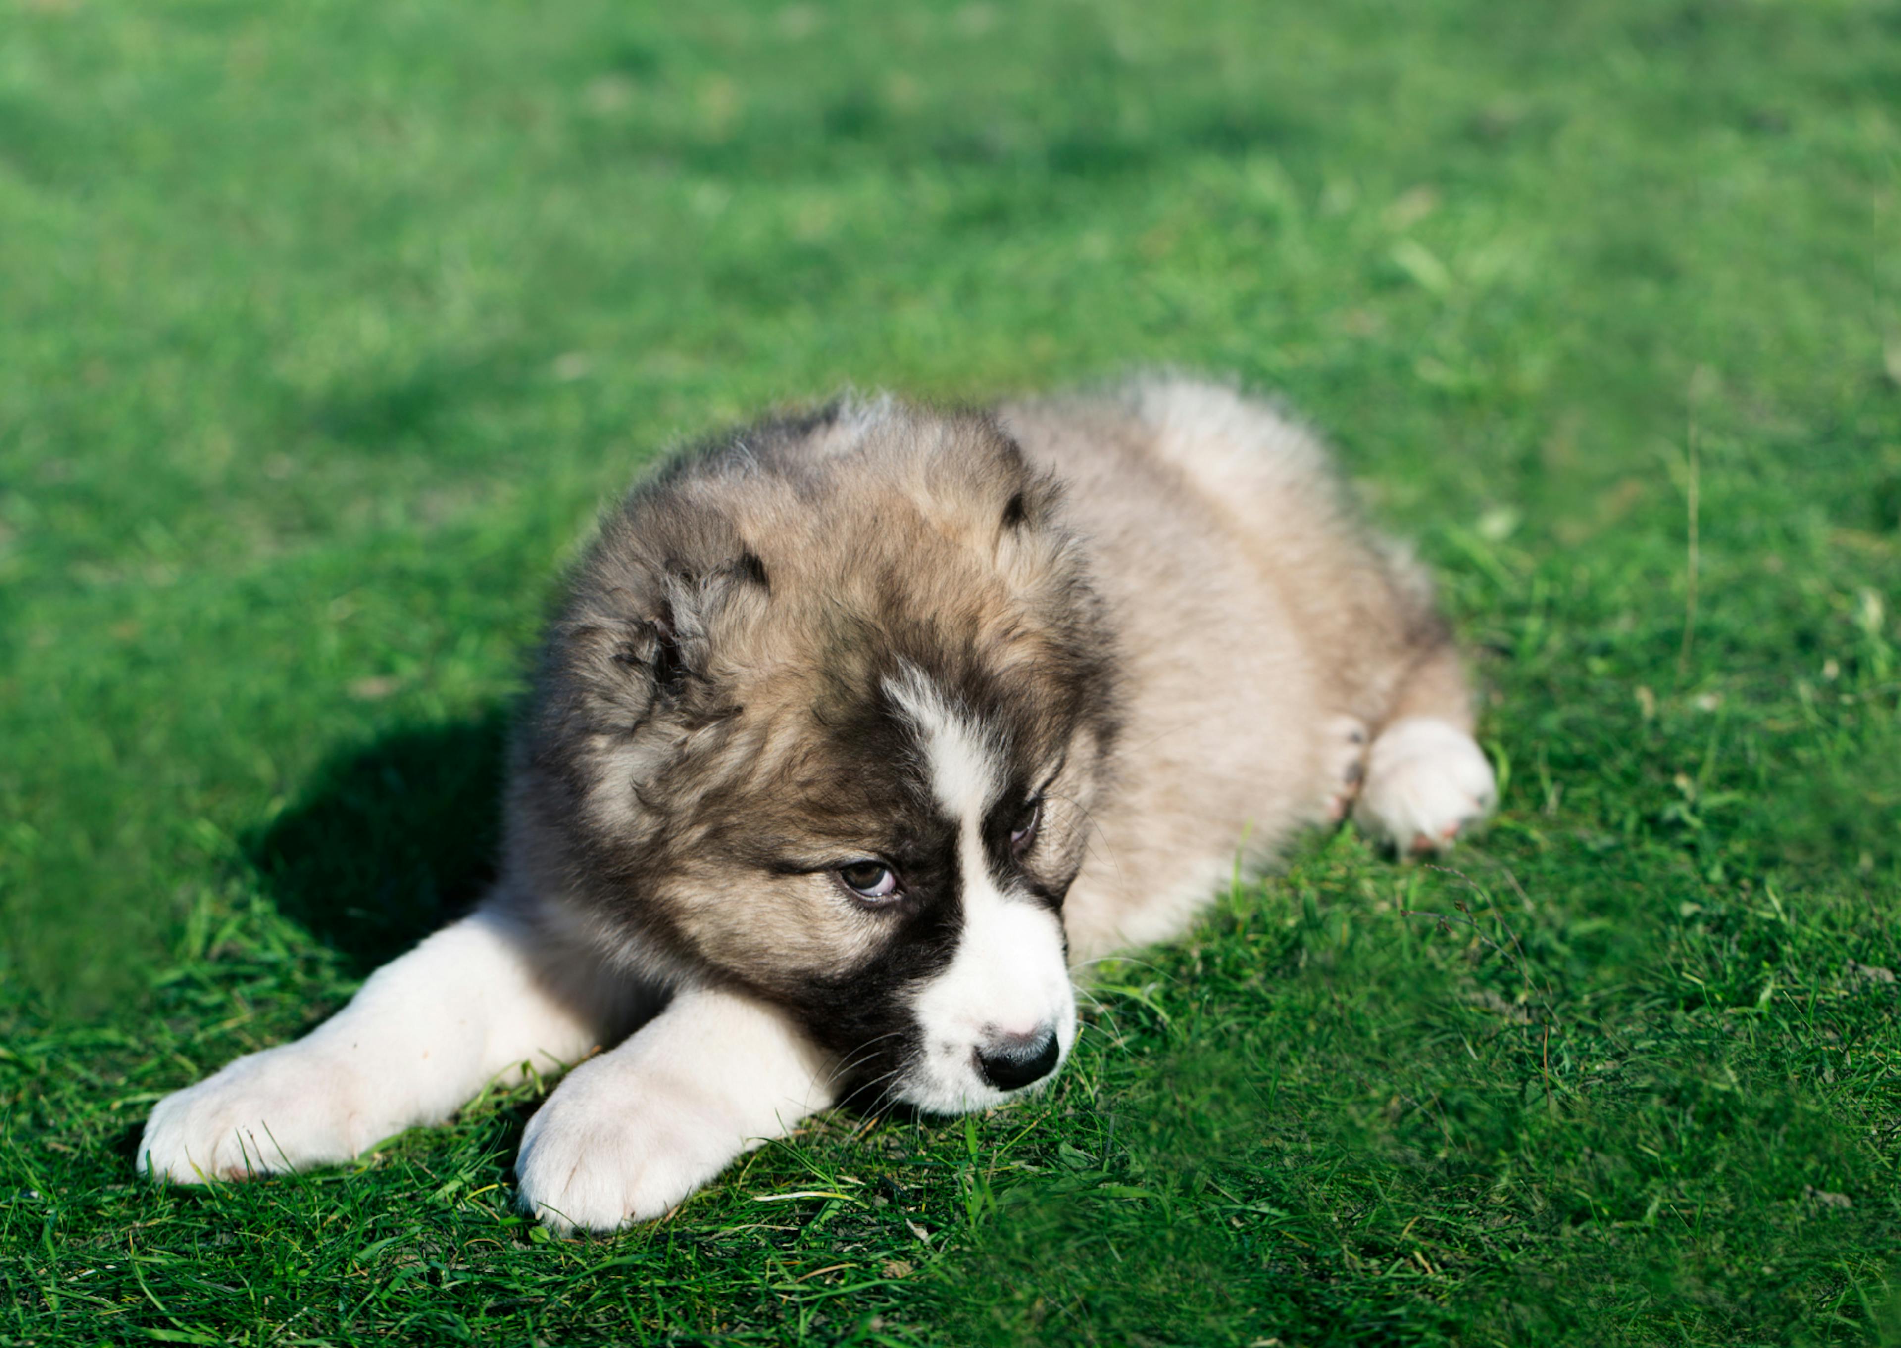
<svg viewBox="0 0 1901 1348">
<path fill-rule="evenodd" d="M 696 989 L 568 1072 L 528 1120 L 521 1205 L 557 1230 L 663 1215 L 833 1103 L 835 1061 L 772 1006 Z"/>
</svg>

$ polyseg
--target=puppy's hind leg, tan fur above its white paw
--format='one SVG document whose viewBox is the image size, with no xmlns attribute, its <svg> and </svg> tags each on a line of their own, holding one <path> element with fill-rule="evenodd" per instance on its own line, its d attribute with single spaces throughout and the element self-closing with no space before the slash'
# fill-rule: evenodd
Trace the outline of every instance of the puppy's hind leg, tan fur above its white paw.
<svg viewBox="0 0 1901 1348">
<path fill-rule="evenodd" d="M 1496 797 L 1492 764 L 1471 738 L 1466 675 L 1443 646 L 1411 671 L 1374 736 L 1354 821 L 1399 852 L 1433 852 L 1483 819 Z"/>
</svg>

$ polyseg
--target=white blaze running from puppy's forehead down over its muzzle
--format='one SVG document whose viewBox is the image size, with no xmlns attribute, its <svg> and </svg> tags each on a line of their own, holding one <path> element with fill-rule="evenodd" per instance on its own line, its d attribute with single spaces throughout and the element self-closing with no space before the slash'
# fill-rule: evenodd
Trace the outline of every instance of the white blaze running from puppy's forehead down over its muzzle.
<svg viewBox="0 0 1901 1348">
<path fill-rule="evenodd" d="M 1068 1055 L 1076 1040 L 1063 918 L 1027 894 L 1006 892 L 990 875 L 983 816 L 1009 781 L 1002 738 L 914 665 L 884 688 L 911 721 L 931 795 L 956 819 L 964 918 L 950 966 L 912 1000 L 924 1061 L 901 1095 L 930 1110 L 981 1108 L 1004 1093 L 977 1074 L 979 1048 L 1055 1030 Z"/>
</svg>

